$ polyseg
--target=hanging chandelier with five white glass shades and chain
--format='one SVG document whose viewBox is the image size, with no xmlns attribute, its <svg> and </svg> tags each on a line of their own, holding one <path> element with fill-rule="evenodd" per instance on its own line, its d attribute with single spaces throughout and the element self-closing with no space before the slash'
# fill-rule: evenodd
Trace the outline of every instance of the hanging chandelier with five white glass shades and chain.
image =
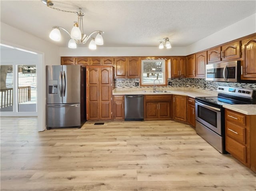
<svg viewBox="0 0 256 191">
<path fill-rule="evenodd" d="M 79 8 L 79 11 L 73 12 L 73 11 L 66 11 L 61 10 L 58 8 L 53 7 L 53 2 L 51 0 L 42 0 L 44 4 L 46 4 L 49 8 L 62 11 L 62 12 L 68 12 L 68 13 L 75 13 L 78 16 L 78 21 L 74 22 L 74 26 L 69 33 L 68 30 L 61 26 L 52 26 L 52 31 L 50 32 L 50 39 L 54 41 L 60 41 L 61 34 L 60 29 L 64 30 L 68 35 L 70 36 L 70 40 L 68 41 L 68 48 L 76 48 L 76 44 L 85 44 L 89 39 L 91 39 L 89 43 L 89 49 L 95 50 L 97 48 L 97 45 L 103 45 L 103 38 L 102 34 L 104 33 L 101 30 L 96 30 L 92 32 L 89 35 L 84 34 L 84 26 L 83 26 L 83 16 L 84 13 L 81 11 L 81 8 Z M 94 38 L 93 35 L 96 34 L 96 37 Z"/>
</svg>

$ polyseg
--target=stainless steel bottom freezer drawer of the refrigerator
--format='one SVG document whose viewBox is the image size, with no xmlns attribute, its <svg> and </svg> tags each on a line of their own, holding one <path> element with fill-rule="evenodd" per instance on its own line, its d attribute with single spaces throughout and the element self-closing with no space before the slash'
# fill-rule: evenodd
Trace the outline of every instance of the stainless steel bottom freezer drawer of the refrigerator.
<svg viewBox="0 0 256 191">
<path fill-rule="evenodd" d="M 80 120 L 80 103 L 46 105 L 47 129 L 80 126 Z"/>
</svg>

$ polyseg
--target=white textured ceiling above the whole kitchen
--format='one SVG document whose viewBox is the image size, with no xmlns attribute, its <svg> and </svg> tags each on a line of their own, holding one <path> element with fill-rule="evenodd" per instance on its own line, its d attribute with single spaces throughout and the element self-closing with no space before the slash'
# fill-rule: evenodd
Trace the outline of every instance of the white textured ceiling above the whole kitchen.
<svg viewBox="0 0 256 191">
<path fill-rule="evenodd" d="M 188 46 L 256 12 L 256 1 L 54 1 L 54 7 L 85 13 L 84 32 L 104 31 L 104 47 L 155 47 L 165 37 Z M 77 16 L 48 8 L 40 0 L 1 0 L 1 22 L 52 42 L 52 26 L 69 32 Z M 67 47 L 69 37 L 61 31 Z M 80 45 L 85 46 L 85 45 Z"/>
</svg>

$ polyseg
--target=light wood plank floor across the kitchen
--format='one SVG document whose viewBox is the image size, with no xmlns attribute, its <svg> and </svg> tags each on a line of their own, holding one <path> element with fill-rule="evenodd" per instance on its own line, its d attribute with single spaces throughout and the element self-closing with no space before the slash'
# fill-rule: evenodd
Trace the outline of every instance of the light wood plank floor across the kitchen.
<svg viewBox="0 0 256 191">
<path fill-rule="evenodd" d="M 1 191 L 255 191 L 256 174 L 175 121 L 36 131 L 1 117 Z"/>
</svg>

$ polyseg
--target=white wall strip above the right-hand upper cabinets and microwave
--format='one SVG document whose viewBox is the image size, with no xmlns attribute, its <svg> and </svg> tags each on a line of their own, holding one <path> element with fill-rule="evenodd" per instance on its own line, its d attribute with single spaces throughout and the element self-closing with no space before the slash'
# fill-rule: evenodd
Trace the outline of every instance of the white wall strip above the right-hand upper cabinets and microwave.
<svg viewBox="0 0 256 191">
<path fill-rule="evenodd" d="M 187 47 L 186 54 L 193 54 L 201 50 L 218 46 L 225 42 L 235 40 L 256 32 L 256 13 L 240 20 L 206 38 L 199 40 Z"/>
</svg>

